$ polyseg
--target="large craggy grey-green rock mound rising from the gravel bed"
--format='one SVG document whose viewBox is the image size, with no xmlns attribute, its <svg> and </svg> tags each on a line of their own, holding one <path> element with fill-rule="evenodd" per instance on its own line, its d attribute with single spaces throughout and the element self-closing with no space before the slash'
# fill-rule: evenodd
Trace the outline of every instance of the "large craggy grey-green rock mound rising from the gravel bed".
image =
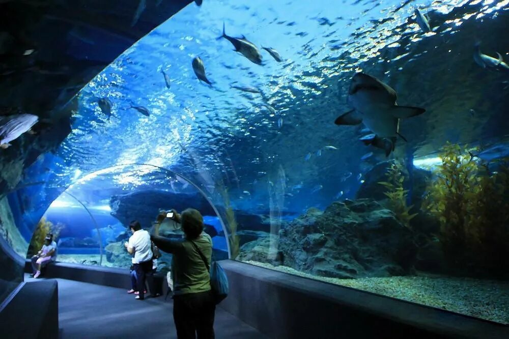
<svg viewBox="0 0 509 339">
<path fill-rule="evenodd" d="M 269 262 L 269 238 L 248 242 L 240 260 Z M 274 250 L 272 250 L 274 251 Z M 413 232 L 390 210 L 370 199 L 310 208 L 279 232 L 283 264 L 333 278 L 405 275 L 413 270 Z"/>
</svg>

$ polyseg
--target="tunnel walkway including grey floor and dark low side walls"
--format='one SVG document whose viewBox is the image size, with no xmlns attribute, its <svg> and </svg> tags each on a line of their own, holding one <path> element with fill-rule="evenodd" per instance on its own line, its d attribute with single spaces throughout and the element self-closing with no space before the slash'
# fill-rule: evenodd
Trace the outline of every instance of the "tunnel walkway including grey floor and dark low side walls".
<svg viewBox="0 0 509 339">
<path fill-rule="evenodd" d="M 239 261 L 221 265 L 230 293 L 216 307 L 218 338 L 509 337 L 506 325 Z M 49 265 L 44 279 L 25 274 L 20 291 L 0 312 L 4 333 L 7 338 L 176 337 L 173 300 L 165 300 L 163 289 L 160 297 L 139 302 L 126 293 L 129 278 L 128 269 L 70 263 Z"/>
</svg>

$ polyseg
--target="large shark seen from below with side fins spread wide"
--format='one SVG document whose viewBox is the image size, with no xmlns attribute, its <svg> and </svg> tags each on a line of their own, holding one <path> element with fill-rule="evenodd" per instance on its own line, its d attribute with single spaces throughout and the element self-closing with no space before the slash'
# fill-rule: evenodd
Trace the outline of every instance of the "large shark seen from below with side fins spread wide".
<svg viewBox="0 0 509 339">
<path fill-rule="evenodd" d="M 419 107 L 398 106 L 396 92 L 382 81 L 364 73 L 352 78 L 348 90 L 348 103 L 353 108 L 335 120 L 336 125 L 358 125 L 361 122 L 374 135 L 362 141 L 385 150 L 388 156 L 394 150 L 399 135 L 401 118 L 409 118 L 424 113 Z"/>
</svg>

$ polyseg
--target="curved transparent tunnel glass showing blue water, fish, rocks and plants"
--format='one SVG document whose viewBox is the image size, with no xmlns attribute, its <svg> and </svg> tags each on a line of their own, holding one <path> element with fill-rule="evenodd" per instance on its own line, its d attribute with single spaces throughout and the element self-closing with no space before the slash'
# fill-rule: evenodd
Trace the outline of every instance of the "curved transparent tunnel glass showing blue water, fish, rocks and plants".
<svg viewBox="0 0 509 339">
<path fill-rule="evenodd" d="M 337 4 L 190 4 L 61 108 L 56 147 L 0 149 L 0 300 L 49 231 L 58 261 L 128 268 L 131 220 L 193 207 L 218 260 L 509 324 L 509 3 Z"/>
</svg>

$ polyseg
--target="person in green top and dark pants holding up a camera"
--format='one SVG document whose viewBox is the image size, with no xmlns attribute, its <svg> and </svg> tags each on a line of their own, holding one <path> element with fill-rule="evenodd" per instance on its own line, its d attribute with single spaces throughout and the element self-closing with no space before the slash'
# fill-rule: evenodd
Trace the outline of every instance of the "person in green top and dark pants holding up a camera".
<svg viewBox="0 0 509 339">
<path fill-rule="evenodd" d="M 172 217 L 173 213 L 173 217 Z M 169 215 L 182 224 L 185 238 L 167 239 L 159 236 L 159 225 Z M 160 250 L 172 253 L 172 278 L 174 280 L 173 319 L 179 339 L 214 338 L 214 313 L 216 305 L 210 287 L 210 273 L 200 253 L 208 261 L 212 257 L 212 238 L 203 232 L 203 217 L 196 209 L 188 208 L 178 214 L 175 210 L 157 215 L 154 235 L 151 236 Z"/>
</svg>

